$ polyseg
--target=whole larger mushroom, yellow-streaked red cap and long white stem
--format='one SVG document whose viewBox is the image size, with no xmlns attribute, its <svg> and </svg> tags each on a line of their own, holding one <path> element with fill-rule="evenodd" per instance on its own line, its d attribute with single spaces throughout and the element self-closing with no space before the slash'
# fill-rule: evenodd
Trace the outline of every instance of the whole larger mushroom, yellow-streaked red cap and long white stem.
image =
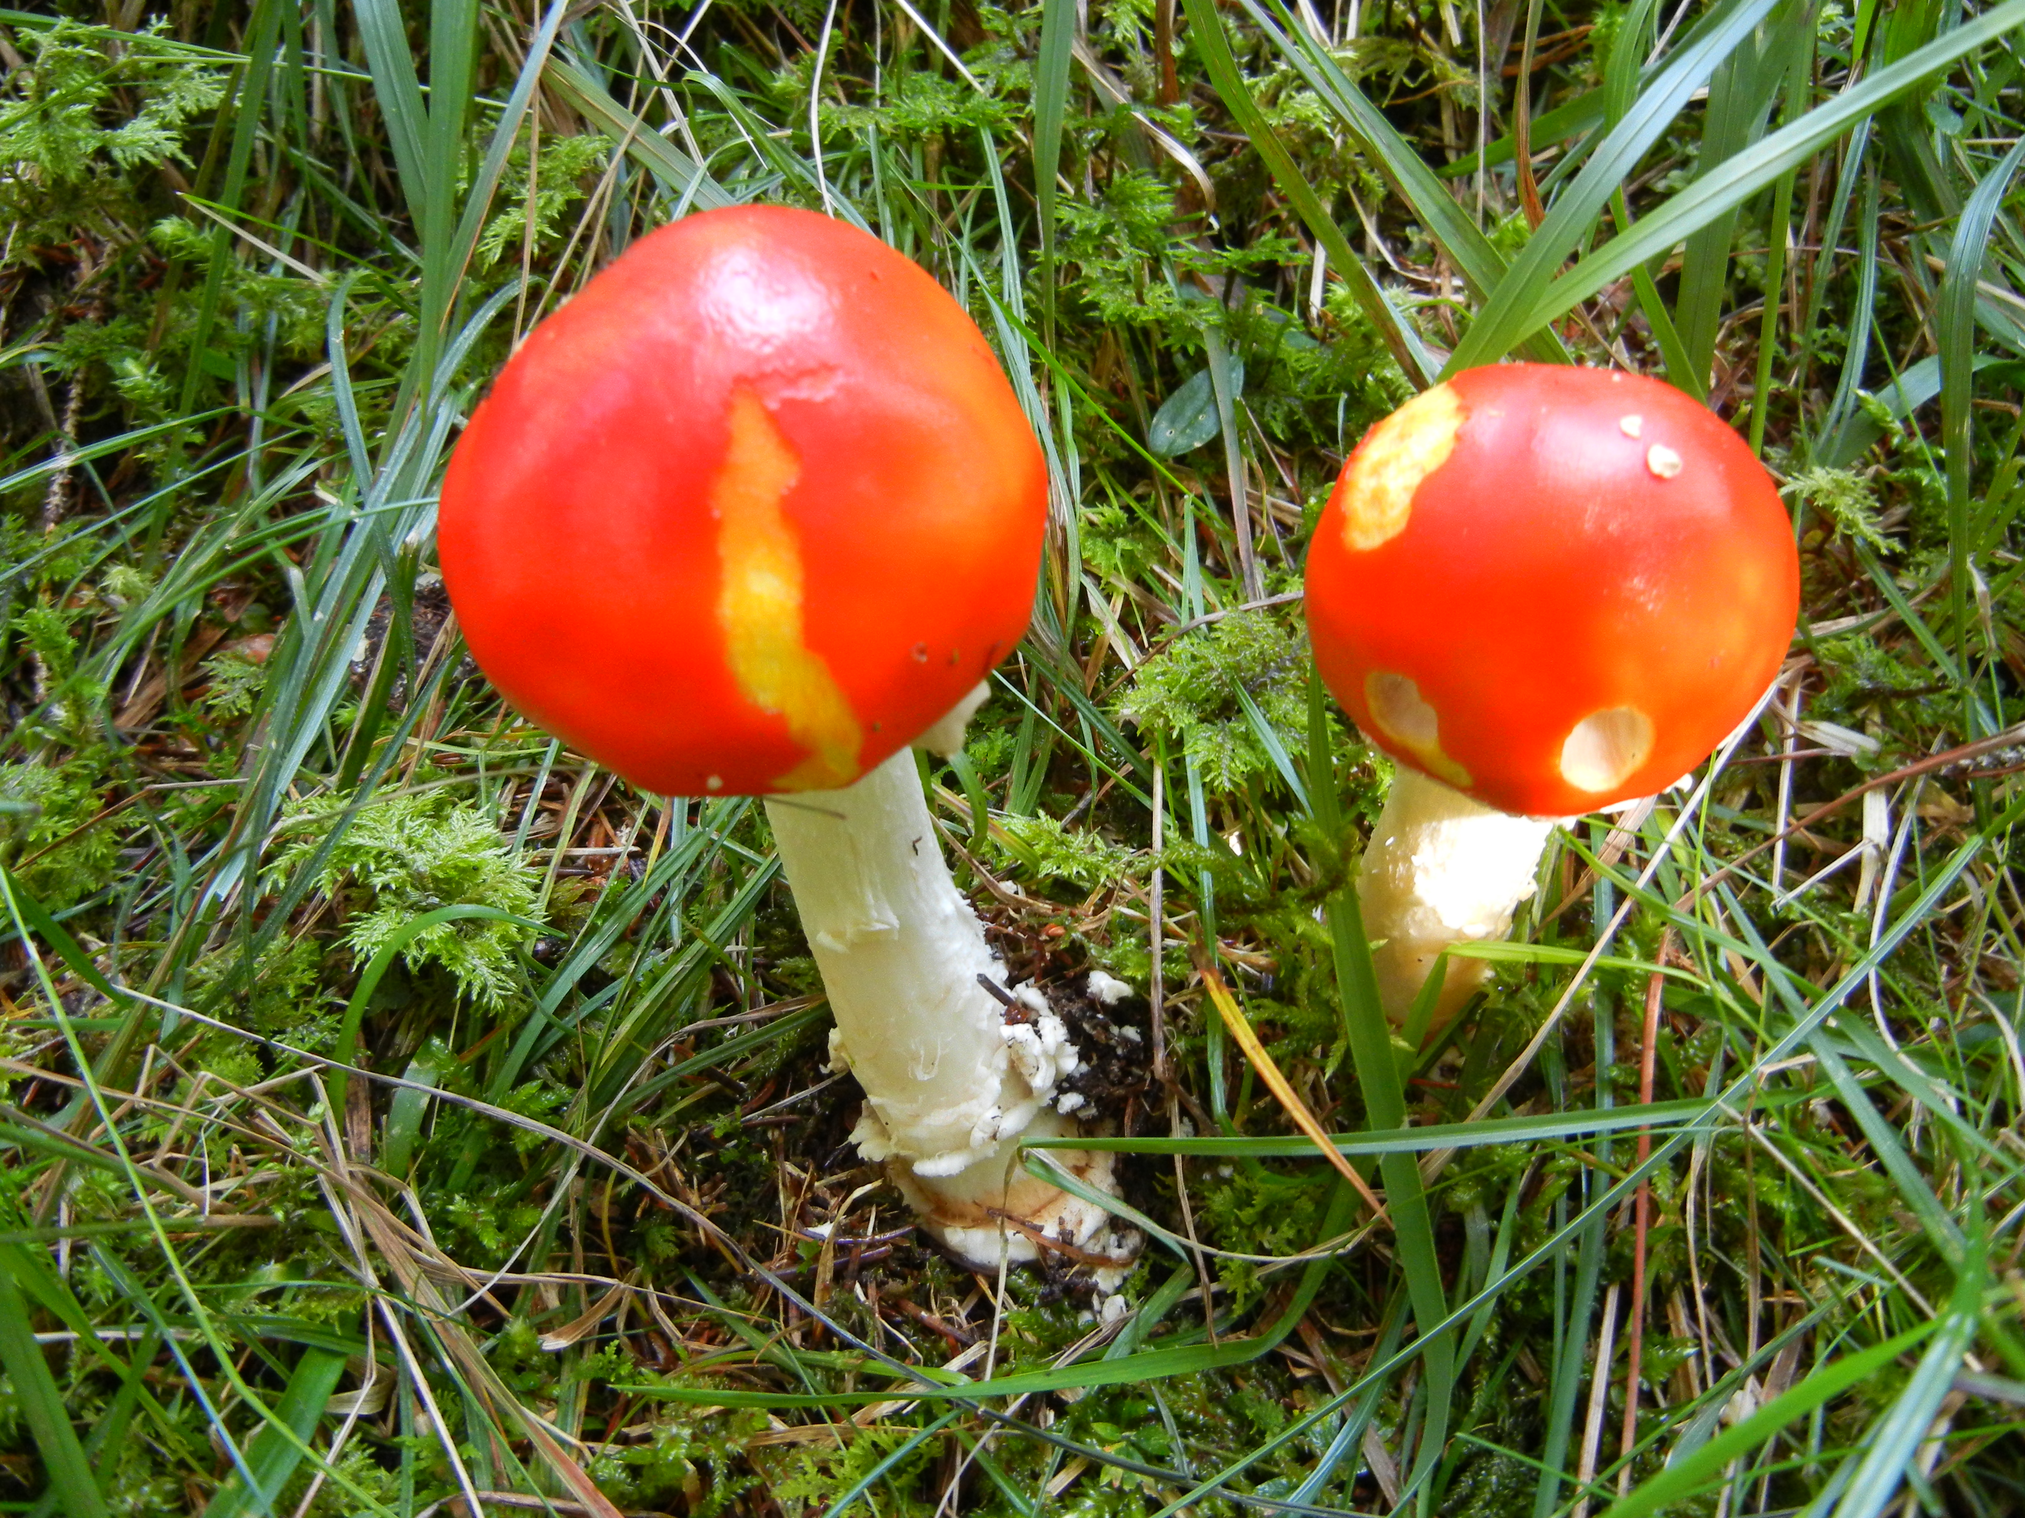
<svg viewBox="0 0 2025 1518">
<path fill-rule="evenodd" d="M 472 656 L 541 727 L 668 795 L 767 795 L 865 1089 L 861 1154 L 958 1253 L 1029 1259 L 1102 1208 L 1015 1168 L 1077 1065 L 1017 1012 L 942 860 L 911 743 L 962 745 L 1027 629 L 1047 474 L 976 324 L 915 263 L 804 210 L 634 243 L 545 320 L 443 478 Z M 1069 1170 L 1110 1182 L 1108 1156 Z"/>
</svg>

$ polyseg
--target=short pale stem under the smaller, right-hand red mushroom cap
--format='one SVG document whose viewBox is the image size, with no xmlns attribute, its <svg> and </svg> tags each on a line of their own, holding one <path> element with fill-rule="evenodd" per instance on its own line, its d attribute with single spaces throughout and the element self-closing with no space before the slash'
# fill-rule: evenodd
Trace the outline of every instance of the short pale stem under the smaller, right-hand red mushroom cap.
<svg viewBox="0 0 2025 1518">
<path fill-rule="evenodd" d="M 1357 876 L 1365 935 L 1377 943 L 1379 1004 L 1393 1024 L 1407 1022 L 1442 949 L 1511 931 L 1555 826 L 1472 802 L 1399 765 Z M 1488 974 L 1482 959 L 1452 957 L 1428 1028 L 1446 1026 Z"/>
</svg>

